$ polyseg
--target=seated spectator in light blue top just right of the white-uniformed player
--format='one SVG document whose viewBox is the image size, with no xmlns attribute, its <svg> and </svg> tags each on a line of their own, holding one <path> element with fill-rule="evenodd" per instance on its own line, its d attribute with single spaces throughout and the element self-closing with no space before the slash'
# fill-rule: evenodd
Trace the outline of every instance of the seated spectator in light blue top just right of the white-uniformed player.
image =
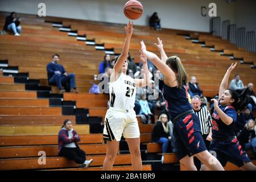
<svg viewBox="0 0 256 182">
<path fill-rule="evenodd" d="M 146 94 L 141 93 L 139 94 L 141 100 L 139 101 L 139 105 L 141 105 L 141 111 L 139 114 L 142 116 L 142 122 L 144 124 L 150 124 L 150 119 L 152 117 L 152 113 L 150 111 L 150 107 L 148 106 L 148 102 L 146 100 Z"/>
</svg>

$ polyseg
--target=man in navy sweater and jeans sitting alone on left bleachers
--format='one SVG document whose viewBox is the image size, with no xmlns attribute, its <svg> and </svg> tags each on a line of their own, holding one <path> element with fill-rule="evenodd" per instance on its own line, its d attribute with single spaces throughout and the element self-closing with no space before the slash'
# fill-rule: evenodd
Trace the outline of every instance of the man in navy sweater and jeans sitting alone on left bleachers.
<svg viewBox="0 0 256 182">
<path fill-rule="evenodd" d="M 76 81 L 74 73 L 67 73 L 63 65 L 59 64 L 59 55 L 52 56 L 53 61 L 47 64 L 47 76 L 49 85 L 57 85 L 60 89 L 60 94 L 65 92 L 63 85 L 69 83 L 70 92 L 78 93 L 76 90 Z"/>
</svg>

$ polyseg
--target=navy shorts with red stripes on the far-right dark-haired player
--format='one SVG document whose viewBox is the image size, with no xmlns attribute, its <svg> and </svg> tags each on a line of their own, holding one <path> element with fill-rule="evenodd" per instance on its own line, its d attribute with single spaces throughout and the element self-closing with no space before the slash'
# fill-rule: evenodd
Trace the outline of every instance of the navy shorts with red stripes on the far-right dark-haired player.
<svg viewBox="0 0 256 182">
<path fill-rule="evenodd" d="M 226 166 L 228 161 L 238 167 L 242 167 L 244 163 L 251 162 L 236 137 L 225 141 L 213 140 L 210 143 L 209 151 L 211 154 L 216 155 L 223 167 Z"/>
</svg>

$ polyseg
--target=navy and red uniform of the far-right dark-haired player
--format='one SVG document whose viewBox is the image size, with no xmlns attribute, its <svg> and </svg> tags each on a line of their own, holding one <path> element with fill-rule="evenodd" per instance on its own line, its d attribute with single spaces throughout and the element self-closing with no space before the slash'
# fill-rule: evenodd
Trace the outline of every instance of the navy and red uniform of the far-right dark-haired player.
<svg viewBox="0 0 256 182">
<path fill-rule="evenodd" d="M 233 106 L 222 106 L 220 102 L 218 106 L 226 115 L 233 119 L 233 122 L 230 125 L 226 125 L 219 117 L 217 111 L 214 110 L 212 114 L 213 140 L 210 143 L 209 151 L 216 153 L 216 158 L 222 166 L 226 166 L 226 163 L 229 161 L 241 167 L 243 163 L 250 162 L 250 159 L 246 155 L 246 152 L 242 150 L 234 132 L 237 111 Z"/>
</svg>

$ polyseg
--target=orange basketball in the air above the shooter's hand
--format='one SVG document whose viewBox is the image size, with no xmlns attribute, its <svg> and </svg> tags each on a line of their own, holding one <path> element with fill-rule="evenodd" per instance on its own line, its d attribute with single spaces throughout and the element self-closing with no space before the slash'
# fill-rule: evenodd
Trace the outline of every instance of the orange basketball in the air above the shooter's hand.
<svg viewBox="0 0 256 182">
<path fill-rule="evenodd" d="M 143 6 L 139 1 L 130 0 L 123 7 L 123 13 L 128 19 L 138 19 L 143 14 Z"/>
</svg>

